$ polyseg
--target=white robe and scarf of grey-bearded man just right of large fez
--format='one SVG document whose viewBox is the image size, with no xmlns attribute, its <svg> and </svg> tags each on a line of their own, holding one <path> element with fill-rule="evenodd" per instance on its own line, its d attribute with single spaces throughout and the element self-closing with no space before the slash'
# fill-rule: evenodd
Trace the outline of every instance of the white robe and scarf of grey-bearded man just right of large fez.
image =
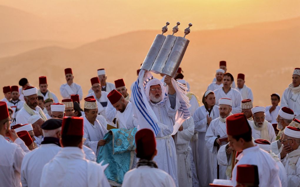
<svg viewBox="0 0 300 187">
<path fill-rule="evenodd" d="M 268 135 L 268 138 L 267 137 L 263 137 L 262 136 L 262 130 L 257 130 L 256 128 L 254 128 L 255 124 L 254 124 L 254 121 L 251 121 L 251 124 L 250 124 L 250 127 L 252 129 L 252 137 L 254 139 L 266 139 L 268 140 L 269 142 L 274 142 L 276 140 L 276 135 L 275 135 L 275 131 L 274 131 L 274 128 L 272 126 L 271 123 L 269 123 L 268 121 L 264 121 L 264 124 L 263 124 L 263 127 L 265 126 L 265 130 L 268 131 L 267 135 Z"/>
</svg>

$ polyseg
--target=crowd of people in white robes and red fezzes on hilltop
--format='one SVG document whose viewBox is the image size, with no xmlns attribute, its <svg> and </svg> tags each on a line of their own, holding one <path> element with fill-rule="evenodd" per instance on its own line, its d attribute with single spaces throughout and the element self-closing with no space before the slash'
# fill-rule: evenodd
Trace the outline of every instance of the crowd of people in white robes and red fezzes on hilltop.
<svg viewBox="0 0 300 187">
<path fill-rule="evenodd" d="M 104 135 L 115 127 L 137 128 L 141 135 L 136 136 L 136 142 L 142 142 L 137 143 L 134 157 L 140 158 L 134 162 L 137 168 L 125 174 L 122 186 L 205 187 L 214 179 L 223 179 L 231 181 L 226 182 L 229 186 L 300 187 L 300 68 L 293 70 L 292 83 L 282 97 L 271 93 L 270 106 L 253 107 L 245 75 L 238 74 L 235 85 L 234 77 L 226 72 L 226 62 L 219 65 L 202 97 L 203 105 L 190 92 L 179 68 L 175 79 L 188 88 L 192 116 L 174 136 L 171 133 L 179 101 L 172 77 L 146 84 L 150 106 L 166 125 L 155 139 L 152 131 L 140 132 L 134 102 L 123 79 L 115 84 L 106 82 L 104 69 L 98 69 L 98 77 L 91 78 L 84 102 L 70 68 L 65 69 L 67 83 L 60 87 L 61 103 L 48 89 L 44 76 L 39 77 L 39 89 L 26 78 L 19 81 L 20 88 L 4 86 L 0 186 L 110 186 L 105 166 L 95 161 L 100 147 L 107 143 Z M 164 103 L 163 83 L 169 90 Z M 77 130 L 69 123 L 74 127 L 78 123 Z M 73 136 L 82 137 L 77 141 L 70 138 Z M 247 174 L 242 174 L 245 164 L 256 165 L 259 185 L 243 182 L 241 176 L 249 180 L 252 171 L 248 168 Z"/>
</svg>

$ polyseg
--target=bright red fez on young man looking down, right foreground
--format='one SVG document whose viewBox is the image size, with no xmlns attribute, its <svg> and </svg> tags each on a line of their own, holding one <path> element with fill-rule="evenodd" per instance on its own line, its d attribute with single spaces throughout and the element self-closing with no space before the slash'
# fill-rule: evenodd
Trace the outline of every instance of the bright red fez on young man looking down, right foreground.
<svg viewBox="0 0 300 187">
<path fill-rule="evenodd" d="M 227 134 L 237 136 L 247 133 L 250 129 L 247 118 L 243 113 L 230 115 L 226 118 Z"/>
</svg>

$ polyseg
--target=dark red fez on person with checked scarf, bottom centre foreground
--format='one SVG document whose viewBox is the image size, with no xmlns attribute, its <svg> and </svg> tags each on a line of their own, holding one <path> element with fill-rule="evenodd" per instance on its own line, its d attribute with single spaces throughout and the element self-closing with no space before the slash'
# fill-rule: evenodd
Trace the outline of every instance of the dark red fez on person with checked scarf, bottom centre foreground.
<svg viewBox="0 0 300 187">
<path fill-rule="evenodd" d="M 156 150 L 155 137 L 150 129 L 141 129 L 135 135 L 137 149 L 135 150 L 138 158 L 149 158 Z"/>
</svg>

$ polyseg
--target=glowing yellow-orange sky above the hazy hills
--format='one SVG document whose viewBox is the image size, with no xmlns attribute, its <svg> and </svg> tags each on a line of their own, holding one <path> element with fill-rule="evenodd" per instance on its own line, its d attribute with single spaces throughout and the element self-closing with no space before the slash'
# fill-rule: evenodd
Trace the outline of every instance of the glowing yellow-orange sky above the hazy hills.
<svg viewBox="0 0 300 187">
<path fill-rule="evenodd" d="M 157 30 L 166 21 L 171 23 L 170 28 L 181 22 L 182 30 L 192 22 L 193 31 L 300 16 L 299 0 L 0 0 L 0 5 L 43 19 L 49 28 L 61 30 L 61 38 L 55 39 L 65 42 Z"/>
</svg>

